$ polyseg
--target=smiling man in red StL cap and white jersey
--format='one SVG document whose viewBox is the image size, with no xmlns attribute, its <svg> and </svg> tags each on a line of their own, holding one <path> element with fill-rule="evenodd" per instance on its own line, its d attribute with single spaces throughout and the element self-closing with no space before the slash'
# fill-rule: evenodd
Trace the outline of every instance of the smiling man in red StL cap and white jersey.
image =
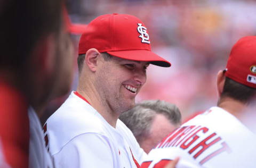
<svg viewBox="0 0 256 168">
<path fill-rule="evenodd" d="M 147 28 L 127 14 L 94 19 L 77 62 L 77 90 L 44 125 L 55 167 L 139 167 L 146 154 L 118 116 L 135 105 L 149 64 L 171 64 L 151 52 Z"/>
</svg>

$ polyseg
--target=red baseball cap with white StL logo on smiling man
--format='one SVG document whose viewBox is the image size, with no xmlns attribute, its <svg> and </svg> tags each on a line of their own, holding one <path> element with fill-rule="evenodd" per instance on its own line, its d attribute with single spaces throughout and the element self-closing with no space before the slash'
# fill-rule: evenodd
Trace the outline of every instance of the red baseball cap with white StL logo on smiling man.
<svg viewBox="0 0 256 168">
<path fill-rule="evenodd" d="M 85 54 L 90 48 L 126 60 L 148 61 L 163 67 L 171 66 L 170 62 L 151 52 L 145 24 L 128 14 L 105 14 L 91 21 L 79 41 L 78 54 Z"/>
</svg>

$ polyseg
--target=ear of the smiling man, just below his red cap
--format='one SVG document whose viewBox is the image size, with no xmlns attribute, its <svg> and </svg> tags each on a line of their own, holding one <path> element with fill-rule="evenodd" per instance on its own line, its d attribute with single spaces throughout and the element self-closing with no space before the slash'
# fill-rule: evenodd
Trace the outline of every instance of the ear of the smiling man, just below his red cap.
<svg viewBox="0 0 256 168">
<path fill-rule="evenodd" d="M 100 52 L 95 48 L 89 49 L 85 54 L 84 61 L 92 72 L 95 72 L 97 69 L 99 56 Z"/>
</svg>

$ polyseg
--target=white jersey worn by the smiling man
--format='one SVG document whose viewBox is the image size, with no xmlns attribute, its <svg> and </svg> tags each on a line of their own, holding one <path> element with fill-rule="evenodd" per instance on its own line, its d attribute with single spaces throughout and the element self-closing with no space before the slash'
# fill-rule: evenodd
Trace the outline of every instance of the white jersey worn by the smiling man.
<svg viewBox="0 0 256 168">
<path fill-rule="evenodd" d="M 74 92 L 44 125 L 58 167 L 139 167 L 146 153 L 121 120 L 116 128 Z"/>
</svg>

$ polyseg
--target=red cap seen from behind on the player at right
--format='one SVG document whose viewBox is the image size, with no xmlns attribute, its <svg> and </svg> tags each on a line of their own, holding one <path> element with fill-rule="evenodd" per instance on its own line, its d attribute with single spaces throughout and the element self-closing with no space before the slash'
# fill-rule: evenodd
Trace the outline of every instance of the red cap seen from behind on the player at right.
<svg viewBox="0 0 256 168">
<path fill-rule="evenodd" d="M 231 49 L 226 77 L 256 88 L 256 36 L 239 39 Z"/>
</svg>

